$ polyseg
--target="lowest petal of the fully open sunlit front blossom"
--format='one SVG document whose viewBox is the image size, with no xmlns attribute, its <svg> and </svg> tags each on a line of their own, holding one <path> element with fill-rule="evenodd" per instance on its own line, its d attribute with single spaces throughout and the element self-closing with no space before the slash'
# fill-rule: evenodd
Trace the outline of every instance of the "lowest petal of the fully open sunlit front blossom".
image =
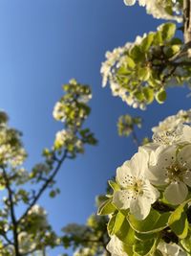
<svg viewBox="0 0 191 256">
<path fill-rule="evenodd" d="M 130 212 L 138 220 L 144 220 L 150 212 L 151 203 L 149 200 L 146 200 L 144 197 L 138 196 L 136 199 L 132 199 L 130 203 Z"/>
</svg>

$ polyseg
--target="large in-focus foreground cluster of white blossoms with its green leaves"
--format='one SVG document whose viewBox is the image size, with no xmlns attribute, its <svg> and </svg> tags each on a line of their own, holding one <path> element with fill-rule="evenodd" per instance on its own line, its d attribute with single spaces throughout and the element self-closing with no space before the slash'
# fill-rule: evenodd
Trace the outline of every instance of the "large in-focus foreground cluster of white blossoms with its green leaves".
<svg viewBox="0 0 191 256">
<path fill-rule="evenodd" d="M 158 127 L 153 128 L 153 142 L 139 147 L 138 152 L 130 160 L 117 168 L 116 182 L 110 181 L 114 193 L 99 208 L 99 214 L 109 214 L 110 217 L 108 232 L 111 241 L 107 249 L 113 256 L 133 255 L 128 253 L 128 248 L 124 249 L 124 237 L 121 235 L 121 232 L 128 233 L 131 228 L 131 232 L 143 234 L 152 232 L 156 234 L 155 232 L 163 229 L 163 233 L 159 235 L 161 237 L 165 230 L 168 230 L 168 234 L 173 231 L 182 238 L 176 228 L 180 228 L 179 225 L 183 223 L 178 223 L 176 228 L 171 223 L 179 218 L 187 220 L 187 213 L 182 212 L 191 199 L 190 124 L 191 109 L 180 110 L 176 115 L 164 119 Z M 179 205 L 180 212 L 177 216 Z M 164 222 L 161 223 L 159 218 Z M 151 220 L 159 221 L 160 226 L 157 224 L 155 229 L 155 224 L 153 226 Z M 123 225 L 126 225 L 126 231 Z M 151 227 L 148 228 L 147 225 Z M 118 230 L 117 226 L 119 226 Z M 167 227 L 169 229 L 165 229 Z M 139 250 L 141 246 L 138 239 L 142 240 L 142 237 L 137 239 L 137 236 L 137 233 L 134 234 L 135 244 L 138 244 L 135 250 Z M 142 236 L 144 238 L 144 235 Z M 186 237 L 187 233 L 184 236 Z M 179 241 L 178 237 L 176 243 L 177 240 Z M 159 239 L 155 242 L 152 239 L 149 242 L 153 243 L 152 249 L 156 250 L 158 247 L 162 255 L 186 255 L 180 250 L 178 243 L 164 244 L 165 239 L 160 243 Z M 172 239 L 172 242 L 175 241 Z"/>
</svg>

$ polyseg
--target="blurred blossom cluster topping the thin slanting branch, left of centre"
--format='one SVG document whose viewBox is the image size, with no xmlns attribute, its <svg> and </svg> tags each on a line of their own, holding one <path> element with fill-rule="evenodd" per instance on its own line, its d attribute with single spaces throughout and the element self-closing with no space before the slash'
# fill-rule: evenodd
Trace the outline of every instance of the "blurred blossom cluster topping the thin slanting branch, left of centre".
<svg viewBox="0 0 191 256">
<path fill-rule="evenodd" d="M 75 80 L 63 85 L 64 96 L 54 105 L 53 117 L 64 123 L 65 128 L 55 134 L 53 151 L 67 150 L 74 157 L 78 152 L 84 152 L 84 144 L 96 144 L 94 134 L 89 129 L 82 129 L 84 121 L 90 114 L 87 105 L 92 99 L 88 85 Z"/>
</svg>

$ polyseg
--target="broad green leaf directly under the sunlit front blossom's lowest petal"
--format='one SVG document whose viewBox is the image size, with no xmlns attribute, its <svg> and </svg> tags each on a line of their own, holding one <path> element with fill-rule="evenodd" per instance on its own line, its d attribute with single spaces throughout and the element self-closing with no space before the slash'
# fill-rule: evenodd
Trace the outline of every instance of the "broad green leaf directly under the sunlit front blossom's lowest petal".
<svg viewBox="0 0 191 256">
<path fill-rule="evenodd" d="M 133 215 L 129 215 L 129 223 L 138 233 L 149 234 L 159 232 L 168 225 L 168 219 L 171 213 L 159 214 L 151 209 L 150 214 L 145 220 L 138 221 Z"/>
</svg>

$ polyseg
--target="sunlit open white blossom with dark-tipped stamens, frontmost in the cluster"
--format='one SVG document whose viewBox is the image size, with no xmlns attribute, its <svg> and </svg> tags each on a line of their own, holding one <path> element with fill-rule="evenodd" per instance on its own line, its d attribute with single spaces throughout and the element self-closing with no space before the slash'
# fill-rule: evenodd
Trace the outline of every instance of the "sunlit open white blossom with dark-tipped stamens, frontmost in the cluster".
<svg viewBox="0 0 191 256">
<path fill-rule="evenodd" d="M 130 161 L 117 168 L 120 190 L 114 193 L 113 202 L 119 209 L 130 209 L 138 220 L 145 219 L 151 204 L 159 198 L 159 191 L 146 178 L 149 154 L 138 151 Z"/>
</svg>

